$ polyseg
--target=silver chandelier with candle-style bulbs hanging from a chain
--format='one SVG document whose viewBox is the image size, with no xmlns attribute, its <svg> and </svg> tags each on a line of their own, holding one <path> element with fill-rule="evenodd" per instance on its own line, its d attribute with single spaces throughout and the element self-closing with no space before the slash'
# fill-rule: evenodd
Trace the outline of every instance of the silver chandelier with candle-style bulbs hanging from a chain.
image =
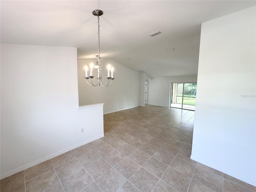
<svg viewBox="0 0 256 192">
<path fill-rule="evenodd" d="M 100 64 L 100 61 L 102 60 L 102 58 L 100 57 L 100 16 L 103 14 L 103 11 L 102 10 L 94 10 L 92 12 L 93 15 L 97 16 L 98 17 L 98 55 L 96 55 L 96 65 L 94 65 L 93 63 L 90 64 L 90 76 L 88 76 L 88 66 L 86 65 L 85 66 L 85 79 L 86 79 L 86 82 L 88 83 L 88 85 L 90 86 L 100 86 L 100 84 L 104 87 L 106 86 L 110 86 L 114 80 L 113 78 L 113 71 L 114 71 L 114 68 L 110 66 L 110 64 L 108 64 L 108 76 L 105 77 L 108 82 L 107 84 L 103 84 L 102 83 L 102 72 L 101 72 L 101 64 Z M 92 83 L 92 78 L 94 78 L 94 76 L 92 76 L 92 70 L 93 68 L 96 68 L 98 69 L 98 76 L 97 76 L 97 83 L 96 84 L 93 84 Z M 111 75 L 110 75 L 110 71 L 111 71 Z M 90 79 L 88 82 L 88 79 Z M 111 79 L 111 82 L 110 82 L 110 79 Z"/>
</svg>

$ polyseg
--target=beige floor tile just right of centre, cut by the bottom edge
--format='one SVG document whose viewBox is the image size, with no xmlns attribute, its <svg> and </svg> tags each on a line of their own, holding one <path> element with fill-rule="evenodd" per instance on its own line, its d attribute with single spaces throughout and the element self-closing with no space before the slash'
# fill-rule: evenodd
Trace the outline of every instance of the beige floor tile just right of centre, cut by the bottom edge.
<svg viewBox="0 0 256 192">
<path fill-rule="evenodd" d="M 142 192 L 152 191 L 158 182 L 158 178 L 144 168 L 140 168 L 129 181 Z"/>
</svg>

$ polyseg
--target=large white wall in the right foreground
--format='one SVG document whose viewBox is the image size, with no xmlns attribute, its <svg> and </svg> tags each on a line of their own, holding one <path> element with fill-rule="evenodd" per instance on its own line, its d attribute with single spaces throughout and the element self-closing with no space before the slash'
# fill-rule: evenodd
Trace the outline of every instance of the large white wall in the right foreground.
<svg viewBox="0 0 256 192">
<path fill-rule="evenodd" d="M 254 6 L 202 24 L 191 155 L 254 186 L 255 11 Z"/>
</svg>

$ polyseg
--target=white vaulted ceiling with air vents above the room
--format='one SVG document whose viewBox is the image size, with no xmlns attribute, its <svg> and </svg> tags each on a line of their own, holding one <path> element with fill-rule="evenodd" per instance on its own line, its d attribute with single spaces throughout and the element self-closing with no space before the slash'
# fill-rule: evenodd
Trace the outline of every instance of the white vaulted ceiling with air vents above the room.
<svg viewBox="0 0 256 192">
<path fill-rule="evenodd" d="M 256 1 L 3 1 L 1 43 L 78 48 L 151 77 L 196 75 L 200 24 L 254 6 Z M 162 33 L 150 37 L 156 31 Z M 221 45 L 220 45 L 221 46 Z M 174 51 L 166 51 L 174 48 Z M 129 60 L 129 59 L 130 60 Z"/>
</svg>

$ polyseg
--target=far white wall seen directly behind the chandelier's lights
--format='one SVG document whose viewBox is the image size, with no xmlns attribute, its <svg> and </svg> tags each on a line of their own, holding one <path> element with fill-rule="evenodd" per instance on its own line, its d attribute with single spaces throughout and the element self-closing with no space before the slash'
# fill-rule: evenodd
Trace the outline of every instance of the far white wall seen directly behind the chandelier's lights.
<svg viewBox="0 0 256 192">
<path fill-rule="evenodd" d="M 91 87 L 83 78 L 85 76 L 84 66 L 90 65 L 94 60 L 78 60 L 78 90 L 79 106 L 94 103 L 104 103 L 104 114 L 137 107 L 139 103 L 139 83 L 140 77 L 134 72 L 110 59 L 102 60 L 102 76 L 107 76 L 107 64 L 114 67 L 114 80 L 111 86 Z M 97 76 L 94 69 L 93 75 Z M 94 77 L 93 82 L 96 82 Z M 104 78 L 103 83 L 107 80 Z M 95 84 L 95 83 L 94 83 Z M 113 106 L 112 106 L 113 105 Z"/>
</svg>

